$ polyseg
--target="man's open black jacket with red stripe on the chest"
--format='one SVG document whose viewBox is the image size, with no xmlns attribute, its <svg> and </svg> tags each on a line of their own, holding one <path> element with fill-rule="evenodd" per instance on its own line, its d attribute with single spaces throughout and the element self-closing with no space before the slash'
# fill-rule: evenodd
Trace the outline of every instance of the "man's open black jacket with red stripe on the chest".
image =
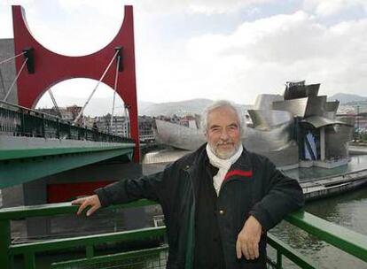
<svg viewBox="0 0 367 269">
<path fill-rule="evenodd" d="M 160 203 L 168 230 L 167 268 L 191 268 L 198 175 L 206 158 L 204 144 L 160 173 L 119 181 L 96 190 L 102 206 L 140 198 Z M 302 189 L 297 181 L 280 173 L 268 158 L 244 149 L 230 167 L 217 201 L 218 211 L 222 211 L 218 215 L 218 226 L 226 268 L 263 268 L 266 236 L 262 236 L 260 242 L 259 259 L 247 261 L 236 257 L 237 236 L 248 216 L 253 215 L 266 232 L 302 205 Z"/>
</svg>

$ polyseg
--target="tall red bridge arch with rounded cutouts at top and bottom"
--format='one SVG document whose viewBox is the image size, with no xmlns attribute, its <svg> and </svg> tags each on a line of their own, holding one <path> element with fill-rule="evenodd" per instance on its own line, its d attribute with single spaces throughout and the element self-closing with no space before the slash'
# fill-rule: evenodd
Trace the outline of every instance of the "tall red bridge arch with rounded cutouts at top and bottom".
<svg viewBox="0 0 367 269">
<path fill-rule="evenodd" d="M 125 6 L 125 15 L 118 34 L 102 50 L 81 57 L 69 57 L 47 50 L 31 35 L 25 17 L 24 9 L 20 5 L 12 6 L 12 20 L 14 29 L 14 55 L 18 55 L 29 47 L 34 49 L 35 73 L 27 73 L 27 69 L 20 73 L 17 81 L 19 104 L 34 108 L 43 92 L 59 81 L 73 78 L 90 78 L 99 81 L 106 66 L 113 58 L 115 47 L 122 47 L 123 71 L 119 73 L 118 88 L 116 89 L 129 107 L 131 138 L 136 142 L 134 160 L 139 161 L 139 131 L 137 124 L 137 85 L 135 73 L 134 50 L 134 22 L 132 6 Z M 24 58 L 16 58 L 16 70 Z M 115 66 L 115 65 L 114 65 Z M 114 87 L 113 65 L 105 74 L 103 82 Z"/>
</svg>

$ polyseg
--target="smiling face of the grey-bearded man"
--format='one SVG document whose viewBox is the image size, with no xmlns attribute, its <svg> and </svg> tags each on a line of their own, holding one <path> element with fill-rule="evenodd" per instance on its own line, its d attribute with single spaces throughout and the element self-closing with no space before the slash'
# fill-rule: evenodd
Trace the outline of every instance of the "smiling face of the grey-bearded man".
<svg viewBox="0 0 367 269">
<path fill-rule="evenodd" d="M 232 157 L 241 142 L 239 119 L 230 107 L 219 107 L 207 115 L 207 142 L 216 157 Z"/>
</svg>

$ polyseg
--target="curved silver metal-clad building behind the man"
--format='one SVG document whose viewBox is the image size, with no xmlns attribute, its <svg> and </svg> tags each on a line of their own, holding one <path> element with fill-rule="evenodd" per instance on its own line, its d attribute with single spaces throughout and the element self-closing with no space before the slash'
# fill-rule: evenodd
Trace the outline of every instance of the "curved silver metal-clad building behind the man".
<svg viewBox="0 0 367 269">
<path fill-rule="evenodd" d="M 339 101 L 317 96 L 320 84 L 287 82 L 285 96 L 261 95 L 247 111 L 252 127 L 244 129 L 247 150 L 262 154 L 277 166 L 298 165 L 301 160 L 332 162 L 348 157 L 353 119 L 337 118 Z M 195 150 L 205 142 L 199 129 L 156 120 L 160 142 Z"/>
</svg>

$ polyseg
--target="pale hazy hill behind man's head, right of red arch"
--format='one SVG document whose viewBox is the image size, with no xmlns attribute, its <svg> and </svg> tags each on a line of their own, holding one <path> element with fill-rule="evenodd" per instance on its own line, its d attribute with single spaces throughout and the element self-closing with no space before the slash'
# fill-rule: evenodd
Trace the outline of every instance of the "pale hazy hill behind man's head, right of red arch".
<svg viewBox="0 0 367 269">
<path fill-rule="evenodd" d="M 213 100 L 210 99 L 191 99 L 180 102 L 159 103 L 150 105 L 141 105 L 139 102 L 139 115 L 147 116 L 183 116 L 187 114 L 201 114 L 202 111 L 211 104 Z M 251 109 L 252 105 L 237 104 L 238 108 L 242 110 Z"/>
</svg>

